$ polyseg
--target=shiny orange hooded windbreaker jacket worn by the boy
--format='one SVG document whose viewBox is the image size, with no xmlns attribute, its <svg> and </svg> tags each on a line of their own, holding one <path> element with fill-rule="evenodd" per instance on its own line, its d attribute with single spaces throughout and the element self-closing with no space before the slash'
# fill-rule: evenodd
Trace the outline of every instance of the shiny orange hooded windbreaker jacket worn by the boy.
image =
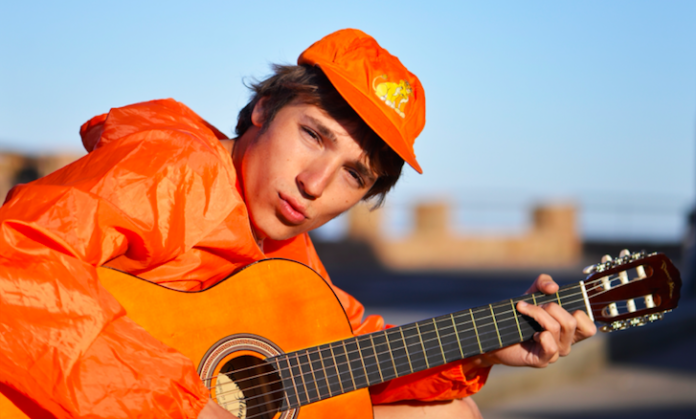
<svg viewBox="0 0 696 419">
<path fill-rule="evenodd" d="M 58 418 L 195 418 L 208 393 L 193 363 L 131 321 L 95 267 L 183 290 L 265 257 L 328 275 L 306 234 L 261 251 L 226 137 L 183 104 L 112 109 L 80 133 L 89 154 L 0 208 L 0 391 Z M 334 289 L 356 334 L 384 327 Z M 463 397 L 487 373 L 450 364 L 378 386 L 373 401 Z"/>
</svg>

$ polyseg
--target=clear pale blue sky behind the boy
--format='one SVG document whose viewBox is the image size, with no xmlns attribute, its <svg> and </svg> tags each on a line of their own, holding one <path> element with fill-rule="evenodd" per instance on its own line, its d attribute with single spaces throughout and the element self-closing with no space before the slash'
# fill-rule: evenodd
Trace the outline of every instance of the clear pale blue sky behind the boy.
<svg viewBox="0 0 696 419">
<path fill-rule="evenodd" d="M 393 205 L 683 214 L 696 201 L 694 22 L 693 1 L 0 0 L 0 146 L 79 151 L 91 116 L 162 97 L 231 134 L 245 78 L 357 27 L 426 89 L 425 174 L 408 170 Z M 651 228 L 675 236 L 671 223 Z"/>
</svg>

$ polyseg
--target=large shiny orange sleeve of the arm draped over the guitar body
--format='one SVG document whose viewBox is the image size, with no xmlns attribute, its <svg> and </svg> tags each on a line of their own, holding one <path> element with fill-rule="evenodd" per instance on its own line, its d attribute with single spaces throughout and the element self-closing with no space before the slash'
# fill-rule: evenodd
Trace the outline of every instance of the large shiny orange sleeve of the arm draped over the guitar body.
<svg viewBox="0 0 696 419">
<path fill-rule="evenodd" d="M 166 263 L 219 224 L 234 188 L 219 158 L 191 133 L 152 130 L 11 192 L 0 382 L 57 418 L 198 416 L 209 396 L 193 363 L 131 321 L 95 267 Z"/>
</svg>

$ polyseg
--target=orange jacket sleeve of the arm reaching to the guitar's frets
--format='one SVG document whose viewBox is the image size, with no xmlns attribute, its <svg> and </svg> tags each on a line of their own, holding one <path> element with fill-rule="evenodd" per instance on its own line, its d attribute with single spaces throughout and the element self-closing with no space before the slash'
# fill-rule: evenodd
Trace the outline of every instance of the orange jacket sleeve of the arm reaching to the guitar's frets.
<svg viewBox="0 0 696 419">
<path fill-rule="evenodd" d="M 269 246 L 266 255 L 297 260 L 319 273 L 336 293 L 346 311 L 354 334 L 362 335 L 391 327 L 385 324 L 382 316 L 364 317 L 365 307 L 355 297 L 331 283 L 329 274 L 321 263 L 309 235 L 297 236 L 282 243 L 282 246 L 279 244 Z M 465 359 L 370 387 L 370 395 L 374 404 L 406 400 L 460 399 L 478 392 L 485 384 L 489 372 L 490 367 L 479 368 Z"/>
</svg>

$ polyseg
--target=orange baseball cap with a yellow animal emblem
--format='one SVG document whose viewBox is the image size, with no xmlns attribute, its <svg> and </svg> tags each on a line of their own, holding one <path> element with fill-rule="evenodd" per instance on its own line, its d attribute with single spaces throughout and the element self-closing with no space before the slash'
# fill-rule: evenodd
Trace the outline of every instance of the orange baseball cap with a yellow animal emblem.
<svg viewBox="0 0 696 419">
<path fill-rule="evenodd" d="M 360 117 L 418 173 L 413 143 L 425 126 L 425 91 L 398 58 L 357 29 L 307 48 L 297 64 L 316 65 Z"/>
</svg>

